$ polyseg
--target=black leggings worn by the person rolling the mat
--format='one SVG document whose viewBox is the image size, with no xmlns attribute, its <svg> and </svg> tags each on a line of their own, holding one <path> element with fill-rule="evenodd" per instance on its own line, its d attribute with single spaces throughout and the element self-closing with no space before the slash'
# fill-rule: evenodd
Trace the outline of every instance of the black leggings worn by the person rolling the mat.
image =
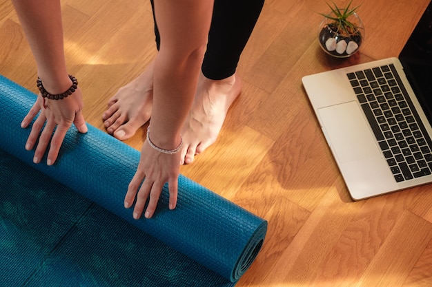
<svg viewBox="0 0 432 287">
<path fill-rule="evenodd" d="M 156 47 L 160 35 L 155 19 Z M 222 80 L 235 73 L 237 63 L 257 23 L 264 0 L 215 0 L 202 72 L 206 78 Z"/>
</svg>

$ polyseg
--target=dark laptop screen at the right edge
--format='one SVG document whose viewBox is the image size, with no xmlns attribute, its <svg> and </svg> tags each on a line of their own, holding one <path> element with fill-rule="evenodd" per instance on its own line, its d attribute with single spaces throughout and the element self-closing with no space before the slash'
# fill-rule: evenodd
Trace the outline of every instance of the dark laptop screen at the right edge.
<svg viewBox="0 0 432 287">
<path fill-rule="evenodd" d="M 432 124 L 432 2 L 406 42 L 399 59 Z"/>
</svg>

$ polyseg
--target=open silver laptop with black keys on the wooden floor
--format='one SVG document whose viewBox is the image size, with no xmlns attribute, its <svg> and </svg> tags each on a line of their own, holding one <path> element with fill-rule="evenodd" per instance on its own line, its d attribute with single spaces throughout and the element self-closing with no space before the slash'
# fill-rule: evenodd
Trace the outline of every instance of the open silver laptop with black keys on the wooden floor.
<svg viewBox="0 0 432 287">
<path fill-rule="evenodd" d="M 432 182 L 432 3 L 398 58 L 304 76 L 353 200 Z"/>
</svg>

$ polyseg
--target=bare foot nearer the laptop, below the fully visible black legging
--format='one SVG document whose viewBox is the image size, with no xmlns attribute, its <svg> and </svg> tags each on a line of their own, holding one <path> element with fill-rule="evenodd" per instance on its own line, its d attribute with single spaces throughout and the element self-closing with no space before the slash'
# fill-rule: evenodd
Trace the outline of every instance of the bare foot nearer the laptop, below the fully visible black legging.
<svg viewBox="0 0 432 287">
<path fill-rule="evenodd" d="M 241 89 L 242 81 L 237 74 L 224 80 L 199 75 L 197 94 L 181 131 L 184 142 L 181 164 L 190 164 L 195 155 L 216 141 L 226 113 Z"/>
</svg>

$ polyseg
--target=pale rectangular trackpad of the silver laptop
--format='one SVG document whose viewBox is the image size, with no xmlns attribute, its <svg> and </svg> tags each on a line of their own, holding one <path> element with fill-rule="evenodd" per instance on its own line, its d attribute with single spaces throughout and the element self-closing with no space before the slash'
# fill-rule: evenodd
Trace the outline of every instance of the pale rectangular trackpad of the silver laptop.
<svg viewBox="0 0 432 287">
<path fill-rule="evenodd" d="M 379 155 L 369 123 L 357 102 L 318 109 L 323 131 L 340 162 L 350 162 Z"/>
</svg>

